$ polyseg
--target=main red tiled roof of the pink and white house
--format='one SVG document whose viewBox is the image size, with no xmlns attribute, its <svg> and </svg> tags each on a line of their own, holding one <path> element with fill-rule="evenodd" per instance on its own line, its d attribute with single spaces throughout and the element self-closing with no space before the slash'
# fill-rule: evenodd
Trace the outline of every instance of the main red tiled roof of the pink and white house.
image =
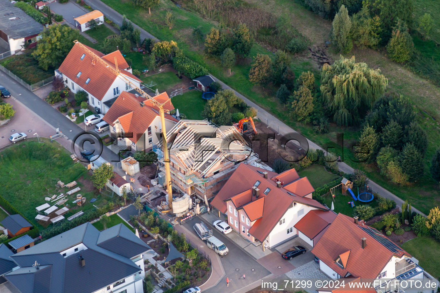
<svg viewBox="0 0 440 293">
<path fill-rule="evenodd" d="M 234 195 L 249 190 L 257 181 L 260 181 L 261 183 L 258 185 L 258 188 L 260 189 L 260 198 L 265 198 L 261 212 L 263 216 L 255 221 L 255 223 L 249 229 L 249 233 L 259 241 L 264 241 L 264 239 L 266 239 L 266 237 L 278 223 L 279 219 L 282 217 L 282 215 L 284 215 L 284 213 L 286 213 L 286 211 L 289 209 L 289 206 L 293 202 L 312 206 L 320 210 L 328 210 L 314 199 L 289 195 L 286 189 L 277 187 L 274 180 L 264 178 L 263 174 L 260 174 L 258 171 L 268 172 L 268 178 L 273 178 L 277 175 L 275 172 L 241 163 L 214 197 L 211 204 L 217 210 L 220 210 L 222 213 L 226 213 L 226 199 L 230 199 Z M 291 174 L 293 174 L 292 171 Z M 264 194 L 266 188 L 271 189 L 267 195 Z M 254 197 L 252 200 L 255 200 Z M 255 206 L 252 206 L 252 212 L 249 211 L 249 213 L 253 213 L 253 209 L 256 206 L 256 204 Z M 248 216 L 250 217 L 249 214 Z"/>
</svg>

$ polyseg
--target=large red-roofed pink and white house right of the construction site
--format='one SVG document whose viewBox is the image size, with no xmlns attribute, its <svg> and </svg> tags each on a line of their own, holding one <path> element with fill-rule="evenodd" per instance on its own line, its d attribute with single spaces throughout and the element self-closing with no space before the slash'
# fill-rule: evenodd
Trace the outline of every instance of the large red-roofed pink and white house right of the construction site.
<svg viewBox="0 0 440 293">
<path fill-rule="evenodd" d="M 270 248 L 296 237 L 295 225 L 312 210 L 331 221 L 334 213 L 312 199 L 313 191 L 295 169 L 277 174 L 241 163 L 211 204 L 240 235 Z"/>
</svg>

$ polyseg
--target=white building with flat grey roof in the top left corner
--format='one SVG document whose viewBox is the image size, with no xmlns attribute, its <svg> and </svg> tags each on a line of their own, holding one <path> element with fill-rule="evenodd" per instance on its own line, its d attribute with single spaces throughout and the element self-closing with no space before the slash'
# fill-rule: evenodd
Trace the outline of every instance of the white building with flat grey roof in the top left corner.
<svg viewBox="0 0 440 293">
<path fill-rule="evenodd" d="M 32 17 L 15 7 L 9 0 L 0 0 L 0 42 L 8 47 L 11 54 L 32 48 L 40 39 L 44 27 Z"/>
</svg>

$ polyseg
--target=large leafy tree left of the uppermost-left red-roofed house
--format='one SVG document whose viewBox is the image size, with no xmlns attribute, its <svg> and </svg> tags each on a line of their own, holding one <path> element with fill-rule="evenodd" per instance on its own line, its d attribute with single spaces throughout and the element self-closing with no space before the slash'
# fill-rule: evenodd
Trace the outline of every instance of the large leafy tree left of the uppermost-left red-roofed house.
<svg viewBox="0 0 440 293">
<path fill-rule="evenodd" d="M 48 70 L 58 68 L 73 47 L 73 41 L 79 39 L 79 32 L 65 25 L 51 25 L 40 33 L 41 39 L 32 56 L 38 65 Z"/>
</svg>

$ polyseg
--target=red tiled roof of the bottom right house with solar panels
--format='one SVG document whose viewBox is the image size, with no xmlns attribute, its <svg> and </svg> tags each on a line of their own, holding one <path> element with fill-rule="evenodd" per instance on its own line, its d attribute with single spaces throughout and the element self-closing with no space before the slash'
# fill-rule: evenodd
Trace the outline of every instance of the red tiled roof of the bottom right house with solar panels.
<svg viewBox="0 0 440 293">
<path fill-rule="evenodd" d="M 355 224 L 352 217 L 339 213 L 315 244 L 312 253 L 339 275 L 344 277 L 350 273 L 354 277 L 364 279 L 375 279 L 392 256 L 411 257 L 403 249 L 399 253 L 393 253 L 360 227 L 368 228 L 367 225 Z M 363 237 L 367 238 L 367 246 L 364 249 L 362 248 Z M 335 259 L 348 250 L 350 250 L 350 256 L 347 265 L 341 268 L 335 263 Z"/>
</svg>

